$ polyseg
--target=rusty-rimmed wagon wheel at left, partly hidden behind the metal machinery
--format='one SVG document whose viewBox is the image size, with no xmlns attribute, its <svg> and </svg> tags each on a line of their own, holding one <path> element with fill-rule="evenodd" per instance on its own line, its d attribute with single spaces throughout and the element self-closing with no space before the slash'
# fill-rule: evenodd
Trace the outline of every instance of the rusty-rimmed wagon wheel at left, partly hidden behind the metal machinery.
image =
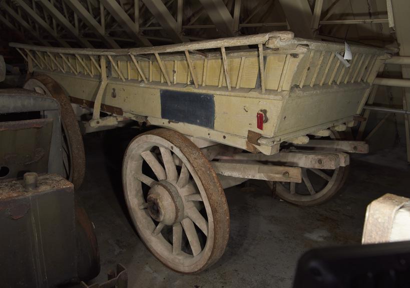
<svg viewBox="0 0 410 288">
<path fill-rule="evenodd" d="M 78 189 L 84 180 L 86 157 L 83 137 L 69 98 L 62 87 L 47 75 L 37 75 L 30 78 L 24 84 L 24 88 L 43 93 L 59 101 L 61 107 L 63 163 L 65 171 L 65 175 L 63 176 L 73 182 L 74 187 Z"/>
</svg>

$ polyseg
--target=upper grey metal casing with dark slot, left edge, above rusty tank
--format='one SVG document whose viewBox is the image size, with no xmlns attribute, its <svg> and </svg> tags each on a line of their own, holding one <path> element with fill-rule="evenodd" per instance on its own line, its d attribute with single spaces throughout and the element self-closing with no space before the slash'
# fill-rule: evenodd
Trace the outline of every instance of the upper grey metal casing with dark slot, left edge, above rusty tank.
<svg viewBox="0 0 410 288">
<path fill-rule="evenodd" d="M 64 175 L 60 105 L 25 89 L 0 89 L 0 180 L 25 172 Z"/>
</svg>

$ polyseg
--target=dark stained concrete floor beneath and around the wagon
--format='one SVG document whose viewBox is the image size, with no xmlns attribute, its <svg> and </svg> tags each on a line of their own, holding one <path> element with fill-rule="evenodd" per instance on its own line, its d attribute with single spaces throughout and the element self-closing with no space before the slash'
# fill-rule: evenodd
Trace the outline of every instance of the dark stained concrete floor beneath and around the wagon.
<svg viewBox="0 0 410 288">
<path fill-rule="evenodd" d="M 272 197 L 262 181 L 225 190 L 231 215 L 222 258 L 197 275 L 162 265 L 144 246 L 130 221 L 121 185 L 121 155 L 129 131 L 85 137 L 87 173 L 79 191 L 96 226 L 101 273 L 116 263 L 129 273 L 129 287 L 291 287 L 297 259 L 313 247 L 359 243 L 366 205 L 384 193 L 410 197 L 405 149 L 355 155 L 340 193 L 317 207 L 297 207 Z"/>
</svg>

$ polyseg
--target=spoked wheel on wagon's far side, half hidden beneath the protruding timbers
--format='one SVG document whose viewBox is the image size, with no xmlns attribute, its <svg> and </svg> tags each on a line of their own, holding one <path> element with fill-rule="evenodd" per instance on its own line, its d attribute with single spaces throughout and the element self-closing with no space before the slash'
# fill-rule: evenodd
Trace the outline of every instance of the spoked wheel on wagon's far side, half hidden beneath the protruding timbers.
<svg viewBox="0 0 410 288">
<path fill-rule="evenodd" d="M 302 182 L 267 181 L 283 200 L 300 206 L 321 204 L 336 195 L 348 174 L 348 166 L 332 169 L 302 168 Z"/>
</svg>

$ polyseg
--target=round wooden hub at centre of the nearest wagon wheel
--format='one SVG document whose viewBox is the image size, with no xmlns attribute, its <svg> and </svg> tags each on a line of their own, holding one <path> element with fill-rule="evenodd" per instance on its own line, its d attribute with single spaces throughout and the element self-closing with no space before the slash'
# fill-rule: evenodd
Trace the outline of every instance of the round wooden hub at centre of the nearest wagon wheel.
<svg viewBox="0 0 410 288">
<path fill-rule="evenodd" d="M 166 180 L 154 184 L 148 192 L 147 209 L 151 217 L 166 225 L 180 222 L 184 204 L 177 188 Z"/>
</svg>

